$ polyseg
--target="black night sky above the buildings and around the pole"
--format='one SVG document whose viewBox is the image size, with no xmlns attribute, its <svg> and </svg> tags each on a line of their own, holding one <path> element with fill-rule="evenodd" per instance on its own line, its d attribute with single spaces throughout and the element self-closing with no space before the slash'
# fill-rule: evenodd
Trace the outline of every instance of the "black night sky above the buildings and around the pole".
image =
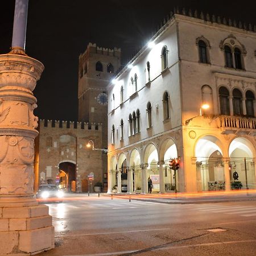
<svg viewBox="0 0 256 256">
<path fill-rule="evenodd" d="M 79 55 L 89 42 L 118 47 L 123 64 L 146 44 L 175 6 L 256 24 L 256 1 L 30 0 L 26 53 L 45 71 L 36 89 L 35 114 L 47 119 L 77 119 Z M 0 54 L 9 52 L 15 0 L 1 0 Z M 256 46 L 255 46 L 256 49 Z"/>
</svg>

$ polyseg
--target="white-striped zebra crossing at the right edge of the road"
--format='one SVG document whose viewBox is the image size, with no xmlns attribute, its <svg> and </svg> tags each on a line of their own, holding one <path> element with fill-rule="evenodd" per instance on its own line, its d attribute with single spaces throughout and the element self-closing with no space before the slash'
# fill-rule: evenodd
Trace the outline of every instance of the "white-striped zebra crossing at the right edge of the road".
<svg viewBox="0 0 256 256">
<path fill-rule="evenodd" d="M 200 205 L 194 206 L 193 209 L 200 212 L 224 213 L 224 214 L 237 214 L 243 217 L 256 216 L 256 206 L 247 205 Z"/>
</svg>

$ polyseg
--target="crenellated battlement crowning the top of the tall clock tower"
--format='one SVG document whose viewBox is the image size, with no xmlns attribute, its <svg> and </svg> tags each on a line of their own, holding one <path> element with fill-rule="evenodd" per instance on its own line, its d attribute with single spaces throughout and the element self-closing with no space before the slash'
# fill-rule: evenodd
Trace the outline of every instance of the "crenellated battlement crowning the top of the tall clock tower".
<svg viewBox="0 0 256 256">
<path fill-rule="evenodd" d="M 81 53 L 79 56 L 79 60 L 84 60 L 89 53 L 97 53 L 101 55 L 107 55 L 107 56 L 117 56 L 119 57 L 121 55 L 121 48 L 114 47 L 114 49 L 110 48 L 104 48 L 104 47 L 98 47 L 96 43 L 89 43 L 86 51 L 84 53 Z"/>
</svg>

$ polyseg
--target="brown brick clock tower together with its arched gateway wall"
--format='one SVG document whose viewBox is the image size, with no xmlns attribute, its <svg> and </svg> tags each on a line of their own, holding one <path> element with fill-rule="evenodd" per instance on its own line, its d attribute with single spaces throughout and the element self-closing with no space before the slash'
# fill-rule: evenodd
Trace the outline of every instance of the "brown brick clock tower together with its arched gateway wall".
<svg viewBox="0 0 256 256">
<path fill-rule="evenodd" d="M 89 43 L 79 56 L 80 122 L 40 120 L 35 189 L 42 183 L 58 183 L 69 191 L 87 192 L 93 191 L 97 182 L 107 188 L 106 153 L 86 144 L 92 141 L 95 148 L 108 147 L 108 104 L 104 100 L 106 86 L 120 67 L 120 55 L 120 49 Z M 90 181 L 88 175 L 93 175 L 94 180 Z"/>
</svg>

